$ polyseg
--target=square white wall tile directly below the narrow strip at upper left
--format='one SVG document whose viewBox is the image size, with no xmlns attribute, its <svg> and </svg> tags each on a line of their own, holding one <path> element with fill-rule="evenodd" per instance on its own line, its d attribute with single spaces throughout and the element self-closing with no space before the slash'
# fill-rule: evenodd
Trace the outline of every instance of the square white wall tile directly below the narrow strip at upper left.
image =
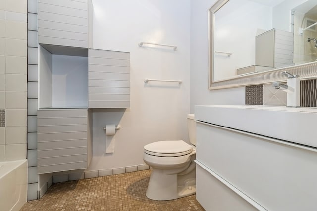
<svg viewBox="0 0 317 211">
<path fill-rule="evenodd" d="M 19 21 L 6 20 L 6 38 L 28 39 L 27 23 Z"/>
</svg>

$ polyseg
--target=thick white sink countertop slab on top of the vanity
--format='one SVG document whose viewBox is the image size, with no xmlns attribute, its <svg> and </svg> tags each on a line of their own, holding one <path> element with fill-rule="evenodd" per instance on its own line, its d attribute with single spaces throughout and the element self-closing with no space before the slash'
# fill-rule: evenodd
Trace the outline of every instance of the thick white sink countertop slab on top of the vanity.
<svg viewBox="0 0 317 211">
<path fill-rule="evenodd" d="M 317 148 L 317 108 L 201 105 L 195 119 Z"/>
</svg>

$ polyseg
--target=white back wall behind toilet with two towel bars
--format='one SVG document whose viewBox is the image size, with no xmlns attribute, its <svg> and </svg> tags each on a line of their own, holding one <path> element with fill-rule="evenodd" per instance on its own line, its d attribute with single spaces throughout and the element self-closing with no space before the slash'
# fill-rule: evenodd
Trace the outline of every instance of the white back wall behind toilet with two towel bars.
<svg viewBox="0 0 317 211">
<path fill-rule="evenodd" d="M 93 6 L 93 47 L 131 53 L 131 107 L 93 110 L 93 159 L 87 171 L 143 164 L 145 144 L 188 141 L 190 0 L 93 0 Z M 178 48 L 139 47 L 139 42 Z M 183 84 L 145 84 L 145 78 L 183 80 Z M 109 123 L 121 125 L 113 154 L 105 154 L 101 129 Z"/>
</svg>

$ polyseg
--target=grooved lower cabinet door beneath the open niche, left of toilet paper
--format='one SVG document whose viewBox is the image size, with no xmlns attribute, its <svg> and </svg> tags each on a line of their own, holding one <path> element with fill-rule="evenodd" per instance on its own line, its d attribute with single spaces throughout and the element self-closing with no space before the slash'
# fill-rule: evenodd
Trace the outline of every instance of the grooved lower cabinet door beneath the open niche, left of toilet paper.
<svg viewBox="0 0 317 211">
<path fill-rule="evenodd" d="M 38 173 L 88 167 L 87 109 L 38 111 Z"/>
</svg>

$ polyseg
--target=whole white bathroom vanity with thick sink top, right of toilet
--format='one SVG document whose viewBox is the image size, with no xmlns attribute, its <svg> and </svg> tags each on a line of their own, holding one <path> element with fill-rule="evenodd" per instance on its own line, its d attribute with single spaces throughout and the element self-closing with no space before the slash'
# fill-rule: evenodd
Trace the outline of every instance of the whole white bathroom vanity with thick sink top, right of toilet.
<svg viewBox="0 0 317 211">
<path fill-rule="evenodd" d="M 196 106 L 195 119 L 207 211 L 317 209 L 317 109 Z"/>
</svg>

